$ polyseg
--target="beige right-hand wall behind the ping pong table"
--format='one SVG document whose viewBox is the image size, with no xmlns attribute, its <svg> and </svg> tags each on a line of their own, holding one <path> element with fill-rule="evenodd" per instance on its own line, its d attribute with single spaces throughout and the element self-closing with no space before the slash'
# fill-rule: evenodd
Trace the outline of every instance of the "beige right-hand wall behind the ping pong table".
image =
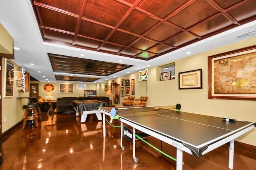
<svg viewBox="0 0 256 170">
<path fill-rule="evenodd" d="M 256 121 L 256 101 L 208 99 L 208 56 L 255 44 L 256 37 L 177 61 L 172 61 L 170 57 L 170 63 L 175 62 L 175 80 L 158 81 L 157 67 L 149 68 L 148 80 L 143 82 L 138 82 L 137 72 L 119 77 L 116 80 L 120 83 L 120 79 L 122 78 L 135 78 L 134 96 L 136 96 L 136 98 L 139 98 L 140 96 L 148 96 L 148 106 L 180 103 L 182 106 L 181 110 L 190 113 L 217 117 L 234 117 L 245 121 Z M 178 90 L 178 73 L 200 68 L 202 68 L 203 88 Z M 102 85 L 99 86 L 104 89 L 104 84 L 106 83 L 107 82 L 102 82 Z M 99 86 L 97 86 L 97 90 Z M 120 102 L 122 102 L 122 98 Z M 255 137 L 256 128 L 237 138 L 236 141 L 256 146 Z"/>
</svg>

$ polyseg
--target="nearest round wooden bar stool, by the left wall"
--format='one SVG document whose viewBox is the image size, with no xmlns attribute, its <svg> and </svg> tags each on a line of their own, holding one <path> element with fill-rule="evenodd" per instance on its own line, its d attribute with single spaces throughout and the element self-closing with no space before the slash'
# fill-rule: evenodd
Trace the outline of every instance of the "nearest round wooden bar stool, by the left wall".
<svg viewBox="0 0 256 170">
<path fill-rule="evenodd" d="M 36 122 L 36 127 L 39 127 L 38 126 L 38 113 L 37 113 L 38 104 L 24 105 L 23 109 L 25 109 L 25 113 L 24 113 L 24 117 L 23 117 L 23 128 L 22 129 L 25 129 L 27 121 L 31 122 L 33 120 Z"/>
</svg>

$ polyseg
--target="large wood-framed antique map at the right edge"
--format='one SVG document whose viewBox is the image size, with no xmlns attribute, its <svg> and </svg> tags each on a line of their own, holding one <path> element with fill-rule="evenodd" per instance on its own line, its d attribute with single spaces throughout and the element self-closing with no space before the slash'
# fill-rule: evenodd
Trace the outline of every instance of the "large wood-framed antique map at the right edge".
<svg viewBox="0 0 256 170">
<path fill-rule="evenodd" d="M 256 45 L 208 57 L 208 98 L 256 100 Z"/>
</svg>

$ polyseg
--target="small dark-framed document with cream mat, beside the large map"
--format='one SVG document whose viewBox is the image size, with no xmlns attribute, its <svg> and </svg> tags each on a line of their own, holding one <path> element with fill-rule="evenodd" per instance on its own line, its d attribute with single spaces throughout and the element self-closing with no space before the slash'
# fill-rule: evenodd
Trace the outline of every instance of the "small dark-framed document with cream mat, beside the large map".
<svg viewBox="0 0 256 170">
<path fill-rule="evenodd" d="M 179 89 L 203 88 L 202 69 L 179 72 Z"/>
</svg>

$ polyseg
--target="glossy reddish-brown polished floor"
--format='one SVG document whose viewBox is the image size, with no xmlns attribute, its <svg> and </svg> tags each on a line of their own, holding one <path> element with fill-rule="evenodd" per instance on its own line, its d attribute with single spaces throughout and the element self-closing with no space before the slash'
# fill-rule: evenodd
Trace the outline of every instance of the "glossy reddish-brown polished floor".
<svg viewBox="0 0 256 170">
<path fill-rule="evenodd" d="M 120 122 L 115 121 L 114 125 Z M 154 139 L 149 143 L 176 157 L 176 149 Z M 75 114 L 42 113 L 40 127 L 22 125 L 3 139 L 3 162 L 0 170 L 175 170 L 176 162 L 142 141 L 136 140 L 136 157 L 132 158 L 132 143 L 124 139 L 120 148 L 120 128 L 107 125 L 102 137 L 102 121 L 96 116 L 80 123 Z M 218 148 L 197 158 L 183 152 L 184 170 L 228 170 L 228 150 Z M 255 170 L 256 160 L 235 154 L 234 170 Z"/>
</svg>

